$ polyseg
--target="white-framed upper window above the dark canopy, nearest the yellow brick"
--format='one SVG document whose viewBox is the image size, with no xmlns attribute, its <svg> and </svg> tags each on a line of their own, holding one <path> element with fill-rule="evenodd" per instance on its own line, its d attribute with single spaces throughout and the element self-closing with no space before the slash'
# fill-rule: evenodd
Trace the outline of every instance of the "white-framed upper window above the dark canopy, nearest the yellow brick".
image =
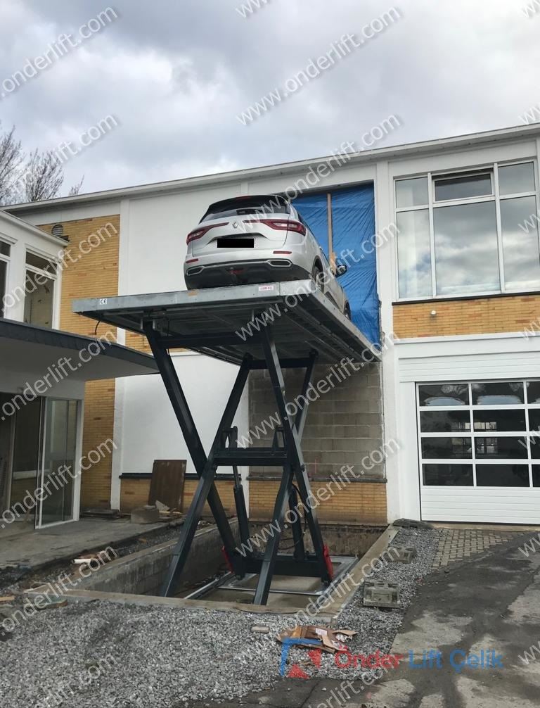
<svg viewBox="0 0 540 708">
<path fill-rule="evenodd" d="M 52 327 L 54 312 L 54 282 L 57 265 L 48 258 L 26 253 L 24 321 L 42 327 Z"/>
</svg>

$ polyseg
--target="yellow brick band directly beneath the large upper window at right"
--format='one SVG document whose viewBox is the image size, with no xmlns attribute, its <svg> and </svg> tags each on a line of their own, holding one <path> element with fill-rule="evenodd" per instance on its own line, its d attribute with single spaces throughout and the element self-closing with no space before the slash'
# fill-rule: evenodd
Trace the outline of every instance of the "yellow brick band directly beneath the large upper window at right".
<svg viewBox="0 0 540 708">
<path fill-rule="evenodd" d="M 540 295 L 431 300 L 395 304 L 393 331 L 399 338 L 521 332 L 539 317 Z"/>
</svg>

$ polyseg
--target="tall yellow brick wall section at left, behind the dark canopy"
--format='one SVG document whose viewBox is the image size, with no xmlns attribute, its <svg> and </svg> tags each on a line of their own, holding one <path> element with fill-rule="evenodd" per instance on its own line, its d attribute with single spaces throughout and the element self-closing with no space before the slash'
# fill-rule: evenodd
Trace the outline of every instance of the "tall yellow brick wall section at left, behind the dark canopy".
<svg viewBox="0 0 540 708">
<path fill-rule="evenodd" d="M 59 222 L 40 228 L 50 233 L 55 223 Z M 61 223 L 69 241 L 66 250 L 70 257 L 65 259 L 62 270 L 60 329 L 94 336 L 96 322 L 71 312 L 71 301 L 80 297 L 118 294 L 120 215 Z M 103 324 L 98 327 L 97 334 L 104 336 L 108 331 L 116 335 L 114 327 Z M 104 440 L 113 439 L 114 407 L 114 379 L 86 384 L 83 455 L 96 449 Z M 111 470 L 112 456 L 105 455 L 82 473 L 81 508 L 110 508 Z"/>
</svg>

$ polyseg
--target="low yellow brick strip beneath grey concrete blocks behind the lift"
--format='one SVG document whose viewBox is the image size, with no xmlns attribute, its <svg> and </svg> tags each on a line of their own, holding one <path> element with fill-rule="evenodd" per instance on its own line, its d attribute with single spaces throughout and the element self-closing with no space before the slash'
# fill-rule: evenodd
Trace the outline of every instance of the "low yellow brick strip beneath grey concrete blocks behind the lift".
<svg viewBox="0 0 540 708">
<path fill-rule="evenodd" d="M 250 518 L 268 521 L 272 518 L 277 480 L 251 479 L 249 481 Z M 311 481 L 311 491 L 326 487 L 335 490 L 333 495 L 316 507 L 318 519 L 325 523 L 386 524 L 386 484 L 380 482 L 350 482 L 337 490 L 330 481 Z M 317 497 L 318 498 L 318 497 Z"/>
</svg>

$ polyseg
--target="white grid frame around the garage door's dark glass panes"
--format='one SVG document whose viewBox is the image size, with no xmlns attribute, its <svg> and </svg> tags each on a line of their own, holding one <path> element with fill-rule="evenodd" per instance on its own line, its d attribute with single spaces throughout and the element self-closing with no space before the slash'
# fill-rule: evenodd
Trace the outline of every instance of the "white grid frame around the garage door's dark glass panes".
<svg viewBox="0 0 540 708">
<path fill-rule="evenodd" d="M 472 386 L 473 384 L 495 383 L 502 384 L 505 382 L 519 382 L 523 384 L 524 400 L 522 404 L 507 404 L 507 405 L 478 405 L 473 404 Z M 536 438 L 536 450 L 540 450 L 540 430 L 539 428 L 531 429 L 529 421 L 529 411 L 540 411 L 540 403 L 529 403 L 527 391 L 527 382 L 540 382 L 540 379 L 535 378 L 505 378 L 505 379 L 476 379 L 475 381 L 421 381 L 415 384 L 415 404 L 416 404 L 416 430 L 417 430 L 417 445 L 418 445 L 418 475 L 420 481 L 420 490 L 422 489 L 489 489 L 489 490 L 515 490 L 515 489 L 531 489 L 539 490 L 540 487 L 534 486 L 532 467 L 540 466 L 540 457 L 532 457 L 531 440 Z M 463 384 L 469 389 L 469 405 L 468 406 L 420 406 L 420 386 L 444 385 L 444 384 Z M 476 411 L 524 411 L 525 430 L 475 430 L 474 429 L 474 413 Z M 420 413 L 426 411 L 469 411 L 469 426 L 471 430 L 464 431 L 449 431 L 444 433 L 423 433 L 420 428 Z M 423 457 L 422 455 L 422 440 L 423 438 L 468 438 L 471 440 L 471 457 Z M 524 438 L 527 440 L 527 456 L 526 457 L 508 457 L 495 458 L 485 457 L 478 459 L 476 456 L 476 438 Z M 424 464 L 471 464 L 473 468 L 473 484 L 469 485 L 442 485 L 442 484 L 424 484 L 423 465 Z M 529 486 L 487 486 L 478 485 L 476 483 L 476 466 L 486 464 L 522 464 L 527 465 L 529 470 Z"/>
</svg>

